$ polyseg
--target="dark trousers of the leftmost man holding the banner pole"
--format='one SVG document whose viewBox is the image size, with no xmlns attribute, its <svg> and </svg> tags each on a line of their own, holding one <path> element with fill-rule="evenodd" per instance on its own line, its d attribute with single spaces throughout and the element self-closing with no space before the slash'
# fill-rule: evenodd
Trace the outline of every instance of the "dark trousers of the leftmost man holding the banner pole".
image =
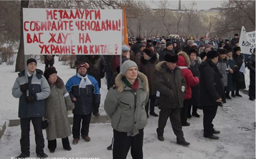
<svg viewBox="0 0 256 159">
<path fill-rule="evenodd" d="M 20 147 L 21 152 L 28 155 L 29 152 L 29 131 L 30 131 L 30 121 L 32 121 L 34 132 L 35 132 L 35 151 L 36 154 L 44 153 L 44 136 L 42 132 L 42 117 L 39 118 L 20 118 L 20 128 L 21 128 L 21 138 Z"/>
</svg>

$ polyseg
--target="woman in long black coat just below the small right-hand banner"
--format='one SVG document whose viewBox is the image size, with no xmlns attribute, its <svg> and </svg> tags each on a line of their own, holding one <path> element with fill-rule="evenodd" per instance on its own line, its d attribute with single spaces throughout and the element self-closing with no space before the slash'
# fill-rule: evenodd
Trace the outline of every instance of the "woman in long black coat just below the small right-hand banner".
<svg viewBox="0 0 256 159">
<path fill-rule="evenodd" d="M 236 65 L 238 66 L 238 71 L 236 71 L 234 74 L 236 80 L 236 96 L 241 97 L 241 95 L 239 94 L 239 89 L 245 89 L 245 81 L 244 74 L 239 70 L 245 61 L 244 56 L 241 54 L 241 48 L 239 46 L 234 48 L 233 58 L 236 61 Z"/>
</svg>

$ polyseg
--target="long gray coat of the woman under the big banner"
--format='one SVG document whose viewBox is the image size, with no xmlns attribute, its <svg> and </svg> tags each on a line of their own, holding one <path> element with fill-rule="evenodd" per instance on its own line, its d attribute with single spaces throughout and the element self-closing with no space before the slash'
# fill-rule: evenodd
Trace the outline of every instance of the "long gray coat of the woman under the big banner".
<svg viewBox="0 0 256 159">
<path fill-rule="evenodd" d="M 46 128 L 47 140 L 66 138 L 71 135 L 67 110 L 73 110 L 75 106 L 61 78 L 58 77 L 55 84 L 50 84 L 50 88 L 51 94 L 45 101 L 44 116 L 49 119 Z"/>
</svg>

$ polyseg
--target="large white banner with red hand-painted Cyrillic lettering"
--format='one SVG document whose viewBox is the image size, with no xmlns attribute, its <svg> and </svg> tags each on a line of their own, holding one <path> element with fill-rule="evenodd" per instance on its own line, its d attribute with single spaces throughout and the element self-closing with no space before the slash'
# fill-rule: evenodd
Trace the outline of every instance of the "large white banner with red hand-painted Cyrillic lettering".
<svg viewBox="0 0 256 159">
<path fill-rule="evenodd" d="M 122 9 L 23 8 L 25 55 L 121 55 Z"/>
</svg>

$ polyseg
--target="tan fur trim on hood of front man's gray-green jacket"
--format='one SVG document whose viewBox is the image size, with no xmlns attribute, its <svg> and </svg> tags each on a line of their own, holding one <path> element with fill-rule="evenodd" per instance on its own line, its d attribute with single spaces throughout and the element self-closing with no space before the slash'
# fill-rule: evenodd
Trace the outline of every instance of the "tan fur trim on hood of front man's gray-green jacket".
<svg viewBox="0 0 256 159">
<path fill-rule="evenodd" d="M 115 87 L 117 88 L 117 91 L 119 93 L 121 93 L 126 85 L 123 83 L 122 81 L 122 78 L 123 78 L 123 75 L 122 73 L 119 73 L 117 76 L 116 76 L 116 79 L 115 79 Z M 146 92 L 149 92 L 149 88 L 148 88 L 148 78 L 146 75 L 144 75 L 143 73 L 141 72 L 138 72 L 138 77 L 137 79 L 140 81 L 140 84 L 139 84 L 139 89 L 142 88 L 143 90 L 145 90 Z"/>
</svg>

